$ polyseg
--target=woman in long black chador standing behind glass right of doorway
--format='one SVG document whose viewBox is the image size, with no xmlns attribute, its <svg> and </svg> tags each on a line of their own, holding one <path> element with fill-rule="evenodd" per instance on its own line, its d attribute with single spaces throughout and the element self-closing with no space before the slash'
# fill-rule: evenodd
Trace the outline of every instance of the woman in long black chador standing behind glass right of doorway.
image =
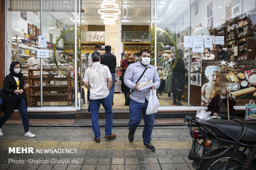
<svg viewBox="0 0 256 170">
<path fill-rule="evenodd" d="M 180 103 L 181 95 L 183 94 L 185 87 L 185 73 L 187 69 L 183 61 L 184 51 L 181 48 L 178 48 L 178 57 L 177 62 L 172 71 L 172 93 L 173 93 L 173 105 L 181 106 Z M 172 60 L 172 65 L 175 61 L 175 52 Z M 178 102 L 176 101 L 176 97 Z"/>
</svg>

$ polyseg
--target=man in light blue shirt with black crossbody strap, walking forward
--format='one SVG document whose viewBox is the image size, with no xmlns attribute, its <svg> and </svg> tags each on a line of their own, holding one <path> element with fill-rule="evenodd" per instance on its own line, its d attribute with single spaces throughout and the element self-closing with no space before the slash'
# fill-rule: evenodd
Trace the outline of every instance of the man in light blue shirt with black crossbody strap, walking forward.
<svg viewBox="0 0 256 170">
<path fill-rule="evenodd" d="M 142 133 L 144 147 L 146 147 L 149 151 L 155 151 L 154 146 L 150 143 L 155 114 L 153 113 L 146 115 L 146 110 L 150 89 L 157 89 L 160 85 L 160 79 L 156 68 L 149 64 L 151 52 L 144 49 L 140 51 L 139 57 L 140 61 L 130 64 L 126 69 L 126 74 L 124 76 L 124 84 L 130 88 L 130 91 L 133 90 L 130 94 L 130 121 L 128 139 L 130 142 L 133 142 L 135 130 L 139 126 L 143 114 L 145 123 Z M 147 70 L 141 77 L 140 81 L 135 84 L 146 68 Z M 140 91 L 138 85 L 149 80 L 153 80 L 153 86 Z"/>
</svg>

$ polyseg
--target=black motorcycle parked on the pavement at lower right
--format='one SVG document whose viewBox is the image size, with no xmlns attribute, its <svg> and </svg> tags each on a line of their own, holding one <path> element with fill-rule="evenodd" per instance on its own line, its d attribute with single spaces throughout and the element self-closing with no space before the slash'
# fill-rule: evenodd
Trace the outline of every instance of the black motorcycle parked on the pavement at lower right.
<svg viewBox="0 0 256 170">
<path fill-rule="evenodd" d="M 256 126 L 239 119 L 186 116 L 193 143 L 188 159 L 197 170 L 255 170 Z M 194 124 L 197 128 L 192 129 Z M 249 151 L 248 151 L 249 150 Z"/>
</svg>

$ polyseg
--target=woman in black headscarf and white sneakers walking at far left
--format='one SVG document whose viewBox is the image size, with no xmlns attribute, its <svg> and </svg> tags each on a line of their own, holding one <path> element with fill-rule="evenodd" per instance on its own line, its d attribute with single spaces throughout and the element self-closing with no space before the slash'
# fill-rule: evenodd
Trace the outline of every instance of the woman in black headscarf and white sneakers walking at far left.
<svg viewBox="0 0 256 170">
<path fill-rule="evenodd" d="M 1 93 L 4 116 L 0 118 L 0 136 L 2 133 L 2 125 L 11 118 L 15 109 L 18 109 L 22 118 L 25 137 L 35 137 L 36 135 L 29 130 L 27 98 L 25 89 L 29 85 L 24 82 L 23 74 L 21 73 L 21 64 L 14 61 L 10 65 L 10 74 L 4 78 L 3 88 Z"/>
</svg>

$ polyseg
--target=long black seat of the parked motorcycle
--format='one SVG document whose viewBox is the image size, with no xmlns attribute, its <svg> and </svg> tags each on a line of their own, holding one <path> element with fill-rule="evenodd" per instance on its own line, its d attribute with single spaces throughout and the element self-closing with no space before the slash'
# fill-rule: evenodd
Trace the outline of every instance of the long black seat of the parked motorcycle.
<svg viewBox="0 0 256 170">
<path fill-rule="evenodd" d="M 197 119 L 197 120 L 202 121 L 200 119 Z M 242 124 L 237 121 L 232 121 L 232 120 L 229 121 L 225 119 L 209 119 L 204 122 L 220 128 L 225 133 L 228 133 L 228 135 L 234 137 L 235 139 L 237 139 L 239 137 L 239 134 L 242 133 Z M 221 137 L 227 137 L 227 135 L 220 132 L 218 129 L 208 125 L 205 125 L 205 126 L 210 128 L 211 132 L 214 133 L 215 135 L 221 136 Z M 245 126 L 246 126 L 246 131 L 244 133 L 244 136 L 240 140 L 246 141 L 246 142 L 256 142 L 256 126 L 251 126 L 247 124 L 245 124 Z"/>
</svg>

